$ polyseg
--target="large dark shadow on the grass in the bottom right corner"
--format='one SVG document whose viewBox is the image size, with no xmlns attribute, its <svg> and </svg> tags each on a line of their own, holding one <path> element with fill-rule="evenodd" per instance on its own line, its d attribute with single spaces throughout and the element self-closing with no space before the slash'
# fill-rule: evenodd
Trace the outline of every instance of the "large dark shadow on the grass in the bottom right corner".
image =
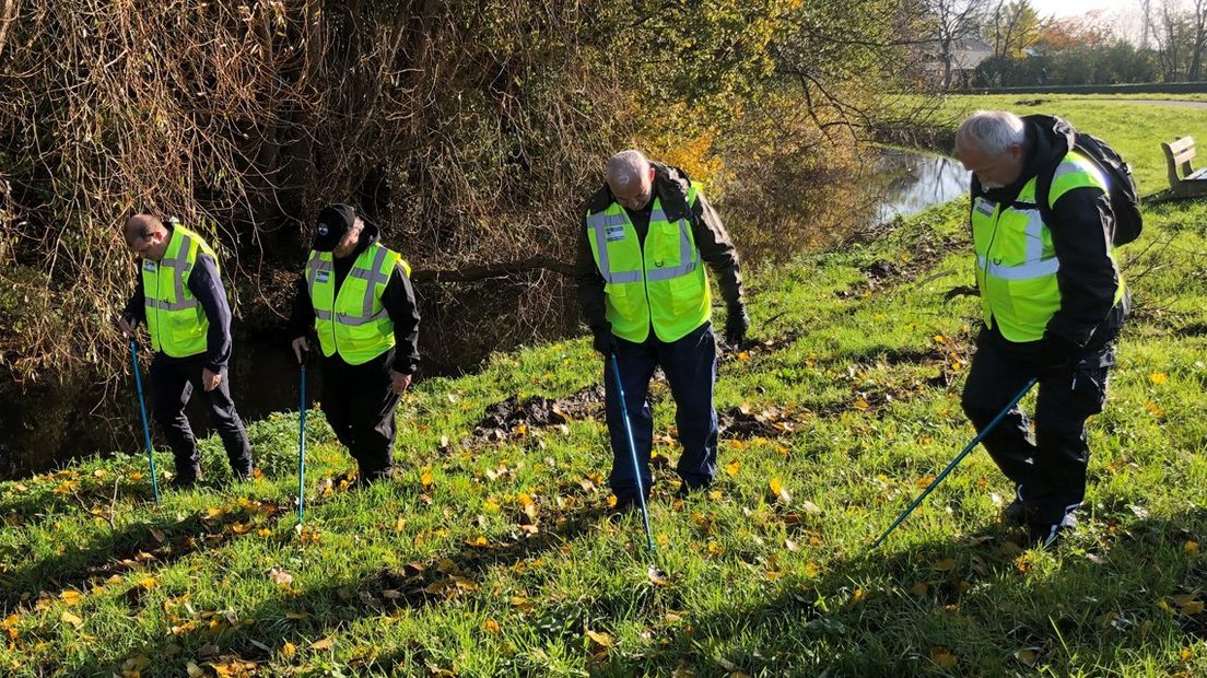
<svg viewBox="0 0 1207 678">
<path fill-rule="evenodd" d="M 1207 637 L 1207 565 L 1185 548 L 1207 510 L 1095 521 L 1059 551 L 1022 551 L 1014 532 L 935 539 L 823 566 L 757 604 L 690 614 L 641 656 L 613 653 L 593 673 L 690 667 L 698 676 L 1001 676 L 1043 665 L 1102 674 L 1142 661 L 1162 635 Z M 890 544 L 891 548 L 891 544 Z M 1170 671 L 1177 648 L 1153 661 Z"/>
</svg>

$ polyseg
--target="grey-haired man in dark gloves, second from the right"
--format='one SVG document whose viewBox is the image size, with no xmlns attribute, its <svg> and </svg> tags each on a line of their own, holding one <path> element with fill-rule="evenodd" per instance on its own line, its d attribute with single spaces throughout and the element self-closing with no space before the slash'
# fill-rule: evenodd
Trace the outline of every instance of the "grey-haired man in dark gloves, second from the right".
<svg viewBox="0 0 1207 678">
<path fill-rule="evenodd" d="M 712 404 L 717 347 L 712 294 L 704 263 L 728 309 L 725 340 L 742 343 L 750 320 L 742 302 L 737 252 L 721 217 L 683 170 L 622 151 L 607 162 L 606 182 L 579 211 L 578 300 L 605 358 L 611 487 L 620 512 L 639 505 L 637 477 L 610 374 L 620 368 L 632 438 L 647 498 L 653 416 L 649 380 L 661 367 L 675 398 L 683 454 L 680 493 L 707 486 L 717 470 L 717 413 Z"/>
</svg>

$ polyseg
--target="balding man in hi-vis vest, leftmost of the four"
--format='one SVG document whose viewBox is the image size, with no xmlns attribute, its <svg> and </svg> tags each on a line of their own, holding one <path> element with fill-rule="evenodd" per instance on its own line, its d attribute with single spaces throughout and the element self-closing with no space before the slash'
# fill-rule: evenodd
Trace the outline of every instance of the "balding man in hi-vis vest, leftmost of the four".
<svg viewBox="0 0 1207 678">
<path fill-rule="evenodd" d="M 126 222 L 126 245 L 139 256 L 138 286 L 117 317 L 127 338 L 144 323 L 151 334 L 151 411 L 176 458 L 175 489 L 192 487 L 202 477 L 197 440 L 185 416 L 193 390 L 202 392 L 222 438 L 235 480 L 251 475 L 251 444 L 231 399 L 231 305 L 218 257 L 205 240 L 177 223 L 153 215 Z"/>
</svg>

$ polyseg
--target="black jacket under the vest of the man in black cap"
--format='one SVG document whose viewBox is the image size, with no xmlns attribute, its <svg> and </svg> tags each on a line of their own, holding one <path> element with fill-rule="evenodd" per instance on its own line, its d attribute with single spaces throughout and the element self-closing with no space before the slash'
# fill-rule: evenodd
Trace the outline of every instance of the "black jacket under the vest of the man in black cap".
<svg viewBox="0 0 1207 678">
<path fill-rule="evenodd" d="M 336 293 L 339 293 L 348 271 L 356 263 L 356 257 L 369 245 L 380 239 L 378 227 L 365 224 L 361 241 L 356 250 L 340 258 L 334 258 Z M 305 337 L 314 329 L 314 304 L 310 303 L 310 290 L 305 285 L 305 274 L 298 276 L 293 285 L 293 310 L 290 312 L 290 337 Z M 419 369 L 419 304 L 415 302 L 415 288 L 400 263 L 390 274 L 390 280 L 381 292 L 381 305 L 393 321 L 395 353 L 392 368 L 403 374 L 414 374 Z"/>
</svg>

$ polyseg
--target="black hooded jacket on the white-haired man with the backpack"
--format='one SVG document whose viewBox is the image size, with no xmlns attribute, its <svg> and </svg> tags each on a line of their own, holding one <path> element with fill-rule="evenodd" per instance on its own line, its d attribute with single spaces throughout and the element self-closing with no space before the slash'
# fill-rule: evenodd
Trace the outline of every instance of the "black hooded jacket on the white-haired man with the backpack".
<svg viewBox="0 0 1207 678">
<path fill-rule="evenodd" d="M 1010 186 L 989 191 L 973 175 L 974 204 L 980 195 L 1013 203 L 1032 177 L 1055 171 L 1072 147 L 1074 130 L 1065 121 L 1050 116 L 1022 119 L 1027 133 L 1022 174 Z M 1050 205 L 1045 220 L 1060 259 L 1056 284 L 1061 306 L 1048 321 L 1044 339 L 1075 356 L 1113 339 L 1127 314 L 1129 300 L 1124 298 L 1118 309 L 1114 300 L 1119 270 L 1108 256 L 1115 222 L 1110 197 L 1095 187 L 1074 188 Z"/>
</svg>

